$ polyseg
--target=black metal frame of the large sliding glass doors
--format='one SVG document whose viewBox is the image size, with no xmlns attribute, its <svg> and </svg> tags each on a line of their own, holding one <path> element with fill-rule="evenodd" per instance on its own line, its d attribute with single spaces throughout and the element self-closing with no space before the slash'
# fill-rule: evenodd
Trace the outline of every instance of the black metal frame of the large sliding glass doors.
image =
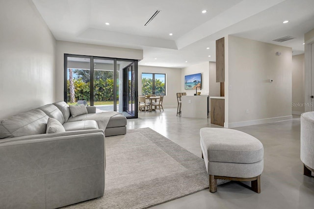
<svg viewBox="0 0 314 209">
<path fill-rule="evenodd" d="M 77 55 L 77 54 L 64 54 L 64 90 L 63 96 L 64 101 L 68 100 L 68 88 L 67 88 L 67 67 L 68 67 L 68 57 L 78 57 L 78 58 L 89 58 L 90 62 L 90 105 L 94 106 L 94 59 L 102 60 L 113 60 L 113 111 L 117 111 L 117 62 L 133 62 L 134 63 L 134 79 L 135 79 L 135 95 L 134 95 L 134 109 L 138 109 L 138 60 L 122 59 L 122 58 L 112 58 L 112 57 L 99 57 L 99 56 L 88 56 L 88 55 Z M 126 85 L 123 83 L 122 85 Z M 127 84 L 128 85 L 128 84 Z M 124 88 L 123 88 L 124 89 Z M 124 94 L 125 92 L 123 92 Z M 120 95 L 119 95 L 120 96 Z M 134 111 L 134 116 L 126 116 L 127 118 L 137 118 L 137 111 Z"/>
</svg>

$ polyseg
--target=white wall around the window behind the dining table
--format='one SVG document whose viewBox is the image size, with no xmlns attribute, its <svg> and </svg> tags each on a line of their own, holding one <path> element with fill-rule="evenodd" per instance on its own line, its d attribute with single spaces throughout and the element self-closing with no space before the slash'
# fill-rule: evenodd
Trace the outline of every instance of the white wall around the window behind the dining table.
<svg viewBox="0 0 314 209">
<path fill-rule="evenodd" d="M 142 72 L 166 73 L 166 96 L 162 102 L 163 107 L 177 107 L 177 94 L 181 92 L 181 69 L 138 66 L 138 94 L 142 92 Z"/>
</svg>

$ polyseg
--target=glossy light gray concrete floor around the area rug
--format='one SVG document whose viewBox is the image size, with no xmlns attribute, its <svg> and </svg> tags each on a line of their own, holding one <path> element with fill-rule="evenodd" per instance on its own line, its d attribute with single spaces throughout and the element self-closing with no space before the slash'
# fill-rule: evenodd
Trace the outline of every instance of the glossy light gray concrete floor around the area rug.
<svg viewBox="0 0 314 209">
<path fill-rule="evenodd" d="M 210 119 L 176 116 L 176 108 L 164 112 L 140 112 L 128 119 L 128 129 L 149 127 L 201 157 L 199 130 L 220 127 Z M 152 209 L 313 209 L 314 178 L 303 175 L 300 160 L 300 117 L 292 120 L 235 128 L 260 139 L 264 146 L 262 192 L 257 194 L 235 182 L 157 205 Z"/>
</svg>

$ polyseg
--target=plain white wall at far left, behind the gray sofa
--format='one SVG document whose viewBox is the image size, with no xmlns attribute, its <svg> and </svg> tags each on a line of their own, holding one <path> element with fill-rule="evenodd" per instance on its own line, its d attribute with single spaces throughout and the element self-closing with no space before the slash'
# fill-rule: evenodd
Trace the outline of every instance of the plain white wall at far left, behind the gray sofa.
<svg viewBox="0 0 314 209">
<path fill-rule="evenodd" d="M 0 118 L 5 118 L 55 101 L 55 39 L 31 0 L 0 5 Z"/>
</svg>

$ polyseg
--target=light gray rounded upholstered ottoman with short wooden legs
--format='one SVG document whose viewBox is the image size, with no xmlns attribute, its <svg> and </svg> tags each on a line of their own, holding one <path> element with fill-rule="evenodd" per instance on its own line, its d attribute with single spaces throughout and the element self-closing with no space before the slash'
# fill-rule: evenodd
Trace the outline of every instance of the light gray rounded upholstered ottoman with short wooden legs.
<svg viewBox="0 0 314 209">
<path fill-rule="evenodd" d="M 202 158 L 209 174 L 209 191 L 217 191 L 217 179 L 251 181 L 261 192 L 264 148 L 258 139 L 241 131 L 224 128 L 200 130 Z"/>
</svg>

